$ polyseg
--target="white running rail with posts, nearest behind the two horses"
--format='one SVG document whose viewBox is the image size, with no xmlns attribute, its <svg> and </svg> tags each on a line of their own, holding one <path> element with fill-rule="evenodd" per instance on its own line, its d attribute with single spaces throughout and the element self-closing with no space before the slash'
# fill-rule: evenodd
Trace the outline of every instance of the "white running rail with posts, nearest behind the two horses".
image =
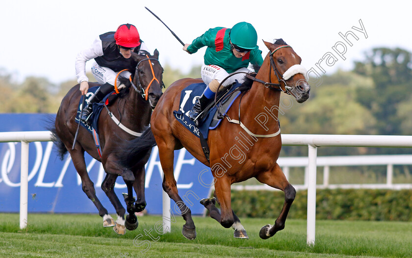
<svg viewBox="0 0 412 258">
<path fill-rule="evenodd" d="M 51 141 L 50 131 L 0 132 L 0 142 L 21 142 L 21 186 L 20 186 L 20 228 L 27 226 L 28 196 L 28 143 L 34 141 Z M 302 162 L 307 166 L 308 219 L 307 244 L 315 243 L 316 214 L 316 164 L 317 147 L 320 146 L 356 146 L 356 147 L 412 147 L 412 136 L 392 135 L 330 135 L 330 134 L 283 134 L 283 145 L 308 146 L 309 156 Z M 408 160 L 410 161 L 409 157 Z M 286 161 L 284 161 L 286 162 Z M 320 163 L 321 164 L 321 163 Z M 326 164 L 326 163 L 325 163 Z M 395 164 L 391 162 L 389 164 Z M 409 163 L 402 163 L 409 164 Z M 286 165 L 283 164 L 286 167 Z M 324 181 L 325 182 L 325 181 Z M 328 182 L 328 181 L 326 181 Z M 389 181 L 391 182 L 391 181 Z M 386 183 L 387 184 L 387 183 Z M 330 185 L 329 185 L 330 186 Z M 168 217 L 170 199 L 163 194 L 163 217 Z M 170 221 L 166 221 L 170 222 Z M 169 227 L 170 229 L 170 227 Z"/>
</svg>

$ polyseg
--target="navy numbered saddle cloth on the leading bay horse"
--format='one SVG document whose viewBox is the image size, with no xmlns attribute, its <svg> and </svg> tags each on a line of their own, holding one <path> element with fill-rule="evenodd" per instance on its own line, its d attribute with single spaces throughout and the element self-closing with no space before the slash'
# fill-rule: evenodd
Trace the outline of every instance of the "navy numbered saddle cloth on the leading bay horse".
<svg viewBox="0 0 412 258">
<path fill-rule="evenodd" d="M 173 114 L 180 124 L 182 124 L 191 133 L 200 138 L 201 132 L 203 137 L 206 139 L 209 130 L 216 129 L 222 120 L 217 118 L 218 114 L 226 113 L 232 106 L 233 101 L 240 95 L 240 91 L 230 94 L 240 85 L 242 84 L 235 83 L 232 85 L 232 88 L 224 90 L 228 92 L 226 95 L 228 97 L 224 97 L 222 102 L 210 108 L 207 115 L 204 116 L 203 123 L 199 127 L 197 127 L 196 124 L 190 120 L 188 113 L 196 103 L 196 99 L 201 96 L 203 91 L 206 89 L 205 83 L 194 83 L 184 88 L 180 95 L 180 108 L 179 110 L 173 111 Z"/>
</svg>

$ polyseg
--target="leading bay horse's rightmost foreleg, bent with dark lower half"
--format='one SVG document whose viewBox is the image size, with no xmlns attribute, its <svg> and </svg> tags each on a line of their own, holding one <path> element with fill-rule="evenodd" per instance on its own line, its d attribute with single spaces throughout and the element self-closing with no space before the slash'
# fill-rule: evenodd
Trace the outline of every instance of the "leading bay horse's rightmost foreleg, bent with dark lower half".
<svg viewBox="0 0 412 258">
<path fill-rule="evenodd" d="M 289 212 L 290 206 L 295 200 L 296 190 L 295 188 L 286 180 L 282 169 L 276 164 L 272 171 L 266 171 L 259 174 L 257 177 L 258 181 L 265 183 L 274 188 L 280 189 L 284 192 L 284 203 L 282 207 L 281 214 L 275 221 L 275 225 L 266 225 L 260 229 L 259 236 L 262 239 L 267 239 L 273 236 L 276 232 L 284 229 L 284 224 L 286 221 L 287 213 Z"/>
</svg>

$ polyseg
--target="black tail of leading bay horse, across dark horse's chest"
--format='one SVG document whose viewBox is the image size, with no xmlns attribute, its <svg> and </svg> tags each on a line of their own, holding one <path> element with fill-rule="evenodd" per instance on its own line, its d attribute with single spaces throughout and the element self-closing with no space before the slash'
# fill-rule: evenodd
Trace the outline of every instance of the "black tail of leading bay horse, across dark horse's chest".
<svg viewBox="0 0 412 258">
<path fill-rule="evenodd" d="M 152 128 L 148 127 L 140 137 L 128 141 L 119 148 L 116 156 L 123 166 L 131 168 L 141 161 L 154 146 L 156 146 L 156 141 Z"/>
</svg>

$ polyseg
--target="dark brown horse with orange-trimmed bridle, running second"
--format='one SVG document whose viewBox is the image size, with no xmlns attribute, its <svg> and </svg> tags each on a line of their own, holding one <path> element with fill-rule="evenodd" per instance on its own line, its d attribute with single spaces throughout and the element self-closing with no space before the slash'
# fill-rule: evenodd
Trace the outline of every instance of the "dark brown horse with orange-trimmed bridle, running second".
<svg viewBox="0 0 412 258">
<path fill-rule="evenodd" d="M 163 68 L 158 61 L 159 52 L 154 51 L 154 55 L 148 52 L 137 54 L 132 52 L 133 66 L 135 71 L 129 71 L 133 79 L 123 78 L 122 82 L 126 86 L 133 86 L 121 94 L 111 105 L 103 107 L 98 119 L 98 135 L 102 153 L 99 155 L 93 136 L 87 129 L 80 127 L 77 141 L 74 142 L 77 123 L 77 106 L 81 98 L 79 84 L 74 86 L 63 98 L 60 108 L 57 111 L 55 128 L 52 129 L 55 143 L 58 146 L 60 158 L 69 152 L 73 164 L 81 178 L 82 189 L 87 197 L 92 200 L 99 215 L 103 217 L 103 227 L 115 226 L 114 231 L 118 234 L 125 234 L 125 224 L 128 230 L 137 228 L 138 221 L 134 212 L 142 211 L 146 206 L 144 184 L 145 168 L 150 153 L 137 163 L 132 169 L 120 166 L 117 158 L 113 155 L 113 150 L 119 148 L 119 143 L 131 140 L 140 136 L 141 132 L 149 126 L 152 109 L 162 95 L 162 74 Z M 90 82 L 89 86 L 100 86 L 98 83 Z M 110 113 L 109 113 L 110 111 Z M 112 118 L 114 116 L 114 119 Z M 117 119 L 117 121 L 115 121 Z M 122 127 L 122 128 L 121 128 Z M 72 147 L 74 145 L 74 149 Z M 106 177 L 102 183 L 102 189 L 116 209 L 118 219 L 116 225 L 107 209 L 103 207 L 96 196 L 94 183 L 90 180 L 84 160 L 84 152 L 102 162 Z M 122 176 L 127 188 L 128 195 L 125 196 L 129 215 L 124 219 L 125 208 L 114 192 L 115 181 L 118 176 Z M 137 194 L 134 202 L 132 188 Z"/>
</svg>

